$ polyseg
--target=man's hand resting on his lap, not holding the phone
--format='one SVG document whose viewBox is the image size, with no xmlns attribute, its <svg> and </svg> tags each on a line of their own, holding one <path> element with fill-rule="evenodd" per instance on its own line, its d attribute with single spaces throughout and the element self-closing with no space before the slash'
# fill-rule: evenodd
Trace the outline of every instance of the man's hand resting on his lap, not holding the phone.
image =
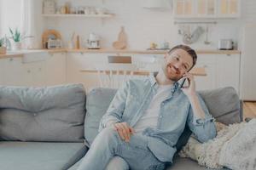
<svg viewBox="0 0 256 170">
<path fill-rule="evenodd" d="M 127 122 L 118 122 L 113 124 L 113 128 L 119 133 L 121 139 L 129 142 L 131 134 L 135 133 L 134 129 Z"/>
</svg>

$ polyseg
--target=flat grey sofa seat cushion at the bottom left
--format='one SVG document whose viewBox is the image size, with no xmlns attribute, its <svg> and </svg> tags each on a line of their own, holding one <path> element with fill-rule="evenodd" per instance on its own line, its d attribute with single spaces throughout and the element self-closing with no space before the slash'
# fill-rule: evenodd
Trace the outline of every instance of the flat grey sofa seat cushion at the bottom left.
<svg viewBox="0 0 256 170">
<path fill-rule="evenodd" d="M 64 170 L 83 146 L 83 143 L 3 141 L 0 142 L 0 169 Z"/>
</svg>

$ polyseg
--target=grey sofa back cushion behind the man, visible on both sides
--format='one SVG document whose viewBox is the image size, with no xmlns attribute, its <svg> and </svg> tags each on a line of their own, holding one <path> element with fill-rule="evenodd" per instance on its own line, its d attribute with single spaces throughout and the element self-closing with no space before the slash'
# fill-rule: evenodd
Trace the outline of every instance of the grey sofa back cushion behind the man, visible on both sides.
<svg viewBox="0 0 256 170">
<path fill-rule="evenodd" d="M 108 110 L 116 89 L 95 88 L 87 95 L 86 116 L 84 121 L 84 137 L 89 144 L 98 133 L 99 122 Z M 241 122 L 241 107 L 238 95 L 234 88 L 218 88 L 200 91 L 207 108 L 218 122 L 230 124 Z"/>
</svg>

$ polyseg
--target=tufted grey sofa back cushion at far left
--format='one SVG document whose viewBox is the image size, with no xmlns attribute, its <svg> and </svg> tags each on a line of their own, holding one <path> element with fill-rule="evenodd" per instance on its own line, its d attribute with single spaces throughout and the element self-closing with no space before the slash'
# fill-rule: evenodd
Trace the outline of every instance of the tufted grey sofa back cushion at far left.
<svg viewBox="0 0 256 170">
<path fill-rule="evenodd" d="M 0 87 L 1 140 L 81 142 L 84 116 L 82 84 Z"/>
</svg>

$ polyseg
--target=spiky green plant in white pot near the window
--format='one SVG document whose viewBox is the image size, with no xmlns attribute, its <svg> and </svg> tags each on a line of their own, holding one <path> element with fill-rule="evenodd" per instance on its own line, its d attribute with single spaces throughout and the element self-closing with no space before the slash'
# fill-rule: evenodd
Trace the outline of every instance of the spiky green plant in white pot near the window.
<svg viewBox="0 0 256 170">
<path fill-rule="evenodd" d="M 11 28 L 9 28 L 9 32 L 11 34 L 11 39 L 14 41 L 12 44 L 12 50 L 20 50 L 21 49 L 21 41 L 32 37 L 32 36 L 25 36 L 20 33 L 20 31 L 16 28 L 15 31 L 13 31 Z"/>
</svg>

